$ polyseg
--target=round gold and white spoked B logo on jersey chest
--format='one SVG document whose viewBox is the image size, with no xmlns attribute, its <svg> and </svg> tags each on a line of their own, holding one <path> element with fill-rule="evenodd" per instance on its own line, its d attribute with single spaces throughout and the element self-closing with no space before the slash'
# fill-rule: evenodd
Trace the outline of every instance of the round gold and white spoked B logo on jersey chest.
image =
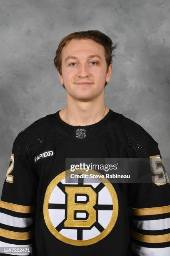
<svg viewBox="0 0 170 256">
<path fill-rule="evenodd" d="M 66 172 L 57 175 L 48 185 L 43 213 L 50 232 L 60 241 L 87 246 L 107 236 L 118 215 L 118 200 L 114 187 L 107 179 L 96 183 L 66 183 Z M 84 173 L 76 170 L 75 174 Z M 88 174 L 100 174 L 89 170 Z M 89 181 L 89 179 L 88 179 Z M 94 181 L 94 180 L 93 180 Z"/>
</svg>

